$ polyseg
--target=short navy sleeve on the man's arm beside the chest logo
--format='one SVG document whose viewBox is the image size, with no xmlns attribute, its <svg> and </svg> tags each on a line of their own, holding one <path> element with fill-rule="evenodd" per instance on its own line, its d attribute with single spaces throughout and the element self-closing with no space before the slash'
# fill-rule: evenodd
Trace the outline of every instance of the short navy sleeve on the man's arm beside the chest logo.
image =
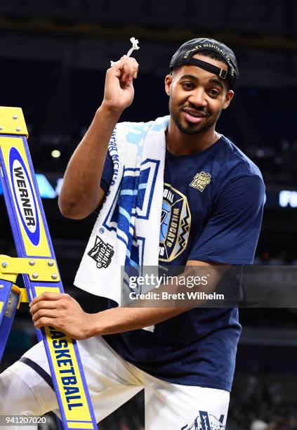
<svg viewBox="0 0 297 430">
<path fill-rule="evenodd" d="M 188 259 L 251 264 L 263 216 L 265 185 L 256 174 L 237 176 L 222 190 Z"/>
</svg>

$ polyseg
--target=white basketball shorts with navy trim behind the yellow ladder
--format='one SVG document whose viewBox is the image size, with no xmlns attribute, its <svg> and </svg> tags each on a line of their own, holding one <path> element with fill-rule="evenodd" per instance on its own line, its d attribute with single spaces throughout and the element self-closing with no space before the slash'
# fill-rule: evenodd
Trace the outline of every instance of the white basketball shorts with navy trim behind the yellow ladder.
<svg viewBox="0 0 297 430">
<path fill-rule="evenodd" d="M 228 391 L 157 379 L 121 358 L 100 336 L 77 344 L 97 422 L 144 389 L 145 430 L 225 429 Z M 60 417 L 40 342 L 0 375 L 0 415 L 44 415 L 50 410 Z"/>
</svg>

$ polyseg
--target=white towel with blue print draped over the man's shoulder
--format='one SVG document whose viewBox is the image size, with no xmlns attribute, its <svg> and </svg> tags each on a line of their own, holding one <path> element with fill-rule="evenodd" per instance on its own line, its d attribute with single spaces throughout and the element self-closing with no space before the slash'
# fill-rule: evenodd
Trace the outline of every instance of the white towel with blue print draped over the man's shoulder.
<svg viewBox="0 0 297 430">
<path fill-rule="evenodd" d="M 112 183 L 74 285 L 119 306 L 128 303 L 129 292 L 142 292 L 128 286 L 124 266 L 140 275 L 143 266 L 158 266 L 168 123 L 168 116 L 119 123 L 108 146 Z"/>
</svg>

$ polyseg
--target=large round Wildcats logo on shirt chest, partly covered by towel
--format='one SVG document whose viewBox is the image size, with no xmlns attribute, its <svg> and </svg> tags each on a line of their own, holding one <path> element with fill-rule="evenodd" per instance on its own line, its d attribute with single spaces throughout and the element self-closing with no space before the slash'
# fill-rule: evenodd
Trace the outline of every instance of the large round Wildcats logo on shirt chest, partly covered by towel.
<svg viewBox="0 0 297 430">
<path fill-rule="evenodd" d="M 159 260 L 172 261 L 187 247 L 191 214 L 187 197 L 164 183 Z"/>
</svg>

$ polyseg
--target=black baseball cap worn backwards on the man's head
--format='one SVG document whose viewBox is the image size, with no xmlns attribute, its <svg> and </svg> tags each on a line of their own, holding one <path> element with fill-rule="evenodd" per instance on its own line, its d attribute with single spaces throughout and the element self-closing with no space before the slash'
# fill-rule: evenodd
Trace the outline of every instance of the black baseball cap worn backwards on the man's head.
<svg viewBox="0 0 297 430">
<path fill-rule="evenodd" d="M 207 61 L 192 58 L 195 53 L 205 51 L 206 49 L 208 51 L 216 52 L 222 57 L 222 60 L 228 65 L 227 72 L 225 69 L 220 69 L 220 67 L 216 67 Z M 231 89 L 235 86 L 239 77 L 235 53 L 228 46 L 214 39 L 199 37 L 198 39 L 186 41 L 185 44 L 178 48 L 178 51 L 176 51 L 174 56 L 171 58 L 169 67 L 172 71 L 173 67 L 184 64 L 195 65 L 207 70 L 208 72 L 217 74 L 219 77 L 226 79 L 227 82 L 229 82 Z"/>
</svg>

